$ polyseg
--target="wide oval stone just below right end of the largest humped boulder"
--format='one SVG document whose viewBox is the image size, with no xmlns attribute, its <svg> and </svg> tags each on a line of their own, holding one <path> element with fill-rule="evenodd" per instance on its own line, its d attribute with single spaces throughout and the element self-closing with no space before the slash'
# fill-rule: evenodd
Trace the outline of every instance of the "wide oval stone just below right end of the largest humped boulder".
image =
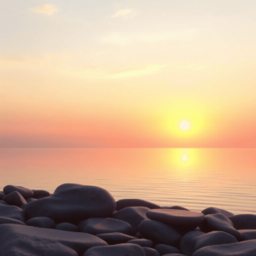
<svg viewBox="0 0 256 256">
<path fill-rule="evenodd" d="M 114 218 L 87 218 L 79 222 L 79 229 L 91 235 L 115 232 L 132 235 L 131 224 Z"/>
</svg>

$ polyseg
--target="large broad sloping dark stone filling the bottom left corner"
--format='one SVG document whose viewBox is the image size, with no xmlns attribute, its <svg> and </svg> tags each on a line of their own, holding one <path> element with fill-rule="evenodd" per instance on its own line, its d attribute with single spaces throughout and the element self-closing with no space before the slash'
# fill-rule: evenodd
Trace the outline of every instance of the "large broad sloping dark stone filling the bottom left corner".
<svg viewBox="0 0 256 256">
<path fill-rule="evenodd" d="M 105 241 L 90 234 L 16 224 L 0 225 L 0 234 L 2 256 L 78 256 L 90 247 L 107 245 Z"/>
</svg>

